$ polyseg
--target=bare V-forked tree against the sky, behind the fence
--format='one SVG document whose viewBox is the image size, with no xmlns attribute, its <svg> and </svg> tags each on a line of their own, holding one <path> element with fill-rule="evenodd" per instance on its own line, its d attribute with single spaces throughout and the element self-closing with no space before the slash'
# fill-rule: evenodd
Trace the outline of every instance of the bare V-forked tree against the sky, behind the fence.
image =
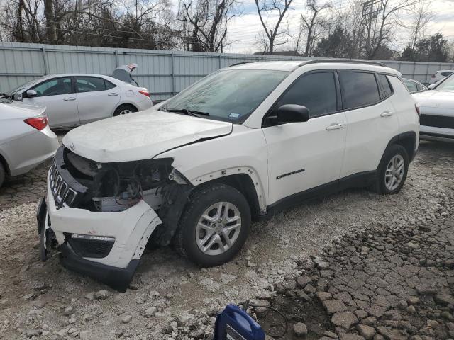
<svg viewBox="0 0 454 340">
<path fill-rule="evenodd" d="M 275 46 L 287 43 L 287 40 L 277 42 L 277 38 L 286 33 L 285 31 L 279 30 L 279 26 L 282 23 L 282 19 L 284 19 L 285 13 L 287 13 L 287 10 L 292 4 L 292 1 L 293 0 L 255 0 L 260 23 L 262 23 L 267 38 L 267 50 L 270 54 L 275 50 Z M 277 21 L 275 23 L 268 23 L 268 19 L 270 19 L 271 16 L 274 16 L 275 13 L 277 13 Z"/>
</svg>

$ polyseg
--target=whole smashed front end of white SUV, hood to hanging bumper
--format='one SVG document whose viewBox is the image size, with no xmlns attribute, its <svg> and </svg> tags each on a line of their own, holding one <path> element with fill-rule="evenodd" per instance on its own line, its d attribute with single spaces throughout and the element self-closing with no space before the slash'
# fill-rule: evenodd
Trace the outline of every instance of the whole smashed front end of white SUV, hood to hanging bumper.
<svg viewBox="0 0 454 340">
<path fill-rule="evenodd" d="M 131 135 L 118 138 L 136 126 Z M 231 123 L 158 111 L 69 132 L 38 208 L 42 259 L 48 249 L 58 249 L 66 268 L 126 290 L 150 235 L 155 244 L 170 243 L 192 188 L 172 167 L 172 158 L 154 157 L 230 132 Z M 90 135 L 95 137 L 87 142 Z"/>
</svg>

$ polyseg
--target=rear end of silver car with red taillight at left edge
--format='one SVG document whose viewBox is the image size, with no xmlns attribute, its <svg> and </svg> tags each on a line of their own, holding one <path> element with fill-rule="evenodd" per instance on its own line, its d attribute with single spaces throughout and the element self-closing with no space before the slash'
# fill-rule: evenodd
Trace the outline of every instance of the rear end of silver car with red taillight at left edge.
<svg viewBox="0 0 454 340">
<path fill-rule="evenodd" d="M 0 98 L 0 187 L 6 176 L 30 171 L 58 147 L 45 108 Z"/>
</svg>

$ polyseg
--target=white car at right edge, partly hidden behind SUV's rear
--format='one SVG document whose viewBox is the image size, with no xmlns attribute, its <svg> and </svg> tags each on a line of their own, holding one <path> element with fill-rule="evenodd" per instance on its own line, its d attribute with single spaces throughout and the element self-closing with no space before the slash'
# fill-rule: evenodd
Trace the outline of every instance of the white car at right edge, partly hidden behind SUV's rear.
<svg viewBox="0 0 454 340">
<path fill-rule="evenodd" d="M 413 97 L 421 113 L 421 140 L 454 142 L 454 75 Z"/>
</svg>

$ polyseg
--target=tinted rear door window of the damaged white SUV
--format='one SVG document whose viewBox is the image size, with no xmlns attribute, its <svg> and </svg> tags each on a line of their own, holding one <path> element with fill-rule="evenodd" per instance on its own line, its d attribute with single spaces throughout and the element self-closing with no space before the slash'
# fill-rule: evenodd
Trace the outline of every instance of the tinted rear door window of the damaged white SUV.
<svg viewBox="0 0 454 340">
<path fill-rule="evenodd" d="M 342 95 L 345 109 L 372 105 L 380 101 L 375 74 L 365 72 L 341 72 Z"/>
</svg>

